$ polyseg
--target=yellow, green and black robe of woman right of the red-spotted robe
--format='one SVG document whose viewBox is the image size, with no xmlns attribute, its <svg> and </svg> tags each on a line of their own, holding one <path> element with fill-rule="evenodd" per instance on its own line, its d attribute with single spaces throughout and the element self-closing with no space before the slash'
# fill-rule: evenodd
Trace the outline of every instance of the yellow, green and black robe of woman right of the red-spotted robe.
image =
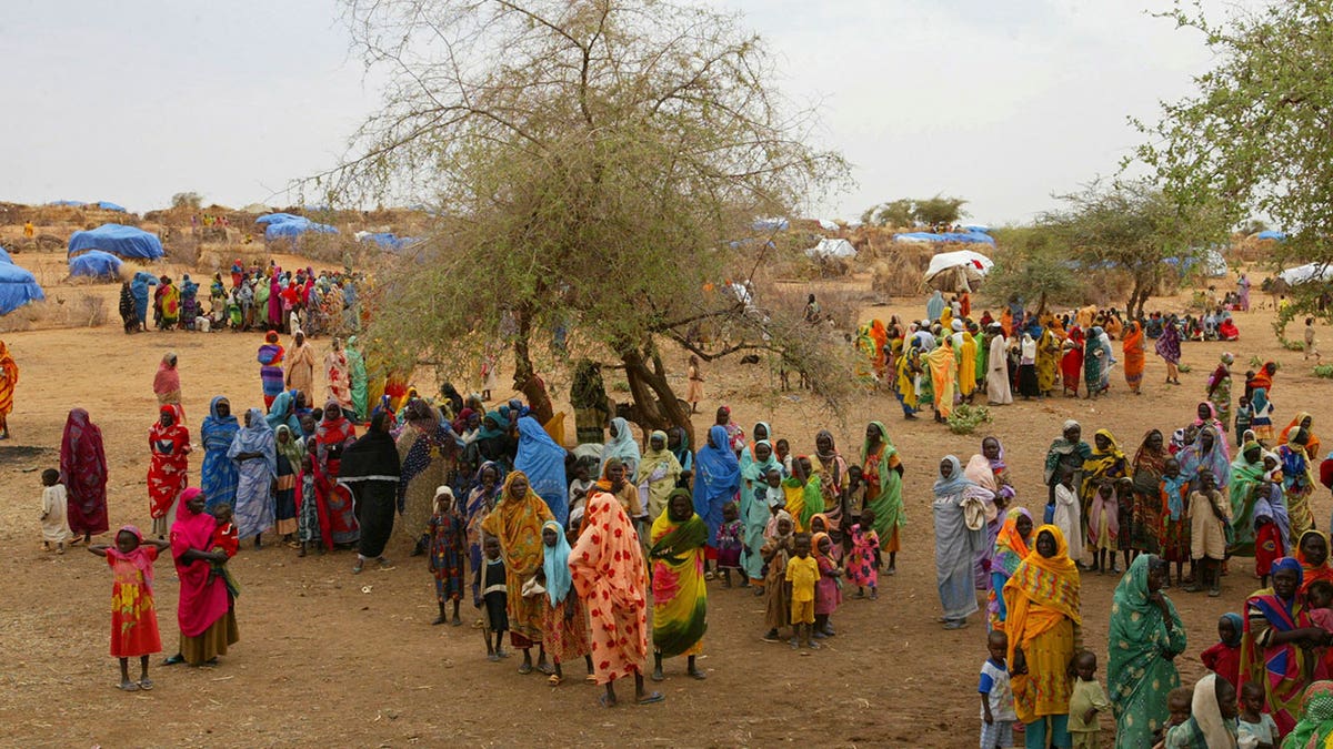
<svg viewBox="0 0 1333 749">
<path fill-rule="evenodd" d="M 684 489 L 676 489 L 688 496 Z M 704 546 L 708 525 L 697 514 L 676 522 L 669 512 L 653 521 L 653 649 L 670 658 L 697 656 L 708 630 L 708 588 L 704 585 Z"/>
</svg>

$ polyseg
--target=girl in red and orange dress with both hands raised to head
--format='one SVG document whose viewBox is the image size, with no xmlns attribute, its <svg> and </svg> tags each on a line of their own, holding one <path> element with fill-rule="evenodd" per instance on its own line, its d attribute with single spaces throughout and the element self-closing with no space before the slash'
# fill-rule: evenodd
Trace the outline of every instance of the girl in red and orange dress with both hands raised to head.
<svg viewBox="0 0 1333 749">
<path fill-rule="evenodd" d="M 116 545 L 97 544 L 88 550 L 107 557 L 115 578 L 111 589 L 111 654 L 120 658 L 120 689 L 152 689 L 148 656 L 161 653 L 157 609 L 153 606 L 153 562 L 169 549 L 167 541 L 144 540 L 133 525 L 116 532 Z M 129 658 L 139 658 L 139 681 L 129 680 Z"/>
</svg>

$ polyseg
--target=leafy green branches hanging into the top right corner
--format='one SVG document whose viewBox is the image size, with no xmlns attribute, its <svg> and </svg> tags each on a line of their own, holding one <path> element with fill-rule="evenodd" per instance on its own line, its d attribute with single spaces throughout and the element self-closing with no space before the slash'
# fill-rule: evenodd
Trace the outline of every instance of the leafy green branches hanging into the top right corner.
<svg viewBox="0 0 1333 749">
<path fill-rule="evenodd" d="M 1333 259 L 1333 8 L 1286 0 L 1225 21 L 1177 0 L 1162 16 L 1202 35 L 1213 68 L 1162 105 L 1137 159 L 1174 200 L 1208 207 L 1218 227 L 1266 216 L 1289 241 L 1278 259 Z"/>
</svg>

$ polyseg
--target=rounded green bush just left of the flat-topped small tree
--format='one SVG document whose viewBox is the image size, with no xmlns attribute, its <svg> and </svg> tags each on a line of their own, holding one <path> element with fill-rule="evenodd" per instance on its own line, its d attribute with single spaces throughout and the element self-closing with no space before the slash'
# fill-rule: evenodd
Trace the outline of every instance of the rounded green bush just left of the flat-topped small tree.
<svg viewBox="0 0 1333 749">
<path fill-rule="evenodd" d="M 1006 227 L 994 231 L 996 265 L 986 275 L 982 295 L 993 303 L 1017 297 L 1033 312 L 1048 304 L 1084 301 L 1084 276 L 1070 271 L 1065 248 L 1054 235 L 1036 227 Z"/>
</svg>

